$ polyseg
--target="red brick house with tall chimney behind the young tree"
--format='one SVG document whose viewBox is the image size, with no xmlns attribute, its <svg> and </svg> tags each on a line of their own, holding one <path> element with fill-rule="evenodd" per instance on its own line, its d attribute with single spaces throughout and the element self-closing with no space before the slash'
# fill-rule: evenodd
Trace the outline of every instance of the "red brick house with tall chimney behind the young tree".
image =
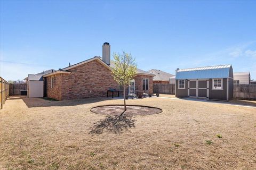
<svg viewBox="0 0 256 170">
<path fill-rule="evenodd" d="M 107 97 L 107 90 L 119 90 L 111 75 L 109 43 L 104 43 L 102 49 L 102 58 L 93 57 L 45 74 L 44 97 L 57 100 Z M 153 77 L 154 74 L 137 69 L 137 75 L 127 91 L 143 90 L 152 94 Z"/>
</svg>

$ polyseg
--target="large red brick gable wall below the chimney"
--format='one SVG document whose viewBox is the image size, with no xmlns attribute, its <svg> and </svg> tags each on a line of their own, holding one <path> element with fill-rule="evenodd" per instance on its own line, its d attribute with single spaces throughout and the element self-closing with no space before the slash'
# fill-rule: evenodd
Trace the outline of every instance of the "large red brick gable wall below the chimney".
<svg viewBox="0 0 256 170">
<path fill-rule="evenodd" d="M 110 88 L 118 89 L 111 71 L 94 60 L 62 74 L 61 100 L 106 97 Z"/>
</svg>

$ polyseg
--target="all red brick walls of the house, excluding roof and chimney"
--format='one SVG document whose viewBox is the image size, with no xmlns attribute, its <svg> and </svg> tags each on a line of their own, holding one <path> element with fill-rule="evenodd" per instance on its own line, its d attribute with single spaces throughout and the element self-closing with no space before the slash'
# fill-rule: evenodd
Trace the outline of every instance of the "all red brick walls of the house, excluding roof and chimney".
<svg viewBox="0 0 256 170">
<path fill-rule="evenodd" d="M 53 88 L 51 88 L 51 77 L 47 77 L 47 97 L 57 100 L 107 97 L 108 89 L 119 89 L 111 71 L 96 60 L 68 71 L 70 74 L 55 75 Z M 152 94 L 153 77 L 149 75 L 137 75 L 134 78 L 135 90 L 143 90 L 143 78 L 149 79 L 149 90 L 144 91 Z"/>
</svg>

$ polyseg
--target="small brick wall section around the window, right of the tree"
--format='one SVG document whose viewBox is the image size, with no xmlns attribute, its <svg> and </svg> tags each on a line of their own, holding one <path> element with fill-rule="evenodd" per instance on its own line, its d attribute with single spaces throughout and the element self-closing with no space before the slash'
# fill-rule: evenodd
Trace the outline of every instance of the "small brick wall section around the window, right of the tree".
<svg viewBox="0 0 256 170">
<path fill-rule="evenodd" d="M 143 78 L 149 79 L 149 90 L 143 90 Z M 153 76 L 150 75 L 136 75 L 135 80 L 135 90 L 143 90 L 148 94 L 153 94 Z"/>
</svg>

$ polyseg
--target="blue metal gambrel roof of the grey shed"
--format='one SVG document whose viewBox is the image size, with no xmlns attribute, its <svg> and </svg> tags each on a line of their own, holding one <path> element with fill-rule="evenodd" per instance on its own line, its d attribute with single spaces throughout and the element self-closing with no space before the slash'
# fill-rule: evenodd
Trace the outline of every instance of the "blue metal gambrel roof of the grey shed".
<svg viewBox="0 0 256 170">
<path fill-rule="evenodd" d="M 177 69 L 175 79 L 213 79 L 229 78 L 231 65 L 217 65 L 196 67 L 191 69 Z"/>
</svg>

